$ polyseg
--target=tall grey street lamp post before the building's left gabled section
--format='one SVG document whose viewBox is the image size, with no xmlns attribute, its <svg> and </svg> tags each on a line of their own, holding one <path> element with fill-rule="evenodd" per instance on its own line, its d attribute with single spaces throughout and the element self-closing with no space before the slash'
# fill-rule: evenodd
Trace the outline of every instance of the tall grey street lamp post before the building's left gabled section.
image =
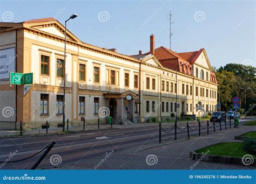
<svg viewBox="0 0 256 184">
<path fill-rule="evenodd" d="M 73 13 L 68 20 L 65 20 L 65 46 L 64 46 L 64 63 L 63 63 L 63 106 L 62 106 L 62 131 L 65 131 L 65 88 L 66 88 L 66 22 L 76 18 L 76 13 Z"/>
</svg>

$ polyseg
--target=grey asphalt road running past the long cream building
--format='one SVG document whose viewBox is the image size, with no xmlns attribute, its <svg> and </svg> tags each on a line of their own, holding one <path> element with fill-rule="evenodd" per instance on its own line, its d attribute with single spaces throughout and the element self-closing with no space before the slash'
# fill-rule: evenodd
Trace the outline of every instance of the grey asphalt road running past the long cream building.
<svg viewBox="0 0 256 184">
<path fill-rule="evenodd" d="M 206 126 L 206 123 L 202 123 L 202 125 Z M 219 123 L 217 123 L 218 125 Z M 194 123 L 191 126 L 192 128 L 196 127 Z M 170 125 L 165 125 L 164 129 L 169 130 L 172 127 L 173 124 L 170 123 Z M 227 127 L 229 128 L 228 122 Z M 185 124 L 180 124 L 179 128 L 184 129 Z M 217 127 L 216 130 L 218 129 Z M 206 130 L 201 130 L 201 132 L 206 133 Z M 213 132 L 213 128 L 210 129 L 210 132 Z M 163 141 L 172 140 L 174 139 L 174 130 L 171 133 L 164 133 L 162 131 L 161 135 Z M 177 130 L 178 139 L 185 138 L 186 136 L 186 129 L 182 132 Z M 190 136 L 198 136 L 198 129 L 196 131 L 190 130 Z M 51 168 L 54 167 L 50 163 L 50 157 L 53 154 L 60 155 L 62 165 L 70 165 L 76 164 L 81 160 L 104 155 L 111 150 L 124 150 L 132 146 L 156 143 L 159 140 L 158 138 L 158 124 L 139 128 L 97 130 L 56 136 L 0 138 L 0 161 L 6 159 L 15 161 L 30 157 L 41 151 L 42 148 L 49 145 L 52 141 L 55 141 L 55 146 L 38 166 L 38 168 Z M 14 157 L 10 158 L 10 153 L 15 151 L 17 153 Z M 41 155 L 42 153 L 27 160 L 2 164 L 0 169 L 30 169 Z"/>
</svg>

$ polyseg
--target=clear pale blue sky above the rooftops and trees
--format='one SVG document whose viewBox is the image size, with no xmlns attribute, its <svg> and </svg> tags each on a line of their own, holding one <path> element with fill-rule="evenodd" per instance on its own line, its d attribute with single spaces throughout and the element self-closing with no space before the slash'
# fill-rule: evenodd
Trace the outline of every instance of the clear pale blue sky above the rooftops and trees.
<svg viewBox="0 0 256 184">
<path fill-rule="evenodd" d="M 211 65 L 255 65 L 255 1 L 0 1 L 0 22 L 55 17 L 64 24 L 73 12 L 68 29 L 85 43 L 117 48 L 122 54 L 149 51 L 153 33 L 156 47 L 175 52 L 205 48 Z M 6 12 L 11 12 L 10 17 Z M 5 14 L 4 14 L 5 13 Z M 103 15 L 100 17 L 100 15 Z M 104 15 L 105 18 L 104 19 Z M 197 17 L 198 15 L 198 17 Z M 6 17 L 4 17 L 6 16 Z M 9 18 L 9 19 L 8 19 Z M 200 19 L 202 18 L 202 19 Z"/>
</svg>

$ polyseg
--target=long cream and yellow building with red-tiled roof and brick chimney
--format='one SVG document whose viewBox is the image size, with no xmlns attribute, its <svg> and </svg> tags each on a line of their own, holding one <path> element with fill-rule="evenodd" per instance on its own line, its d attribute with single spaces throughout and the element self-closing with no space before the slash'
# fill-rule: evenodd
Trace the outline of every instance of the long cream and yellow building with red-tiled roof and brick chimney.
<svg viewBox="0 0 256 184">
<path fill-rule="evenodd" d="M 64 75 L 69 121 L 94 123 L 106 116 L 118 124 L 165 120 L 176 112 L 176 92 L 178 116 L 215 111 L 218 84 L 205 49 L 155 49 L 152 35 L 150 52 L 128 56 L 83 43 L 70 31 L 66 35 L 64 55 L 64 26 L 57 20 L 0 23 L 2 124 L 62 122 Z M 33 84 L 10 85 L 10 72 L 33 73 Z"/>
</svg>

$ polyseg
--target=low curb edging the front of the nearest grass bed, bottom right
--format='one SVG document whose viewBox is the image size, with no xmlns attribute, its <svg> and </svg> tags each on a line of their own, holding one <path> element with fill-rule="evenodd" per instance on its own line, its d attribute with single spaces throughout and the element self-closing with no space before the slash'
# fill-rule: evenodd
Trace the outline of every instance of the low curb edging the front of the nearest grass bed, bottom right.
<svg viewBox="0 0 256 184">
<path fill-rule="evenodd" d="M 192 160 L 208 161 L 208 162 L 218 162 L 223 164 L 243 164 L 243 159 L 240 157 L 226 157 L 221 155 L 211 155 L 211 154 L 199 154 L 196 152 L 190 152 L 190 158 Z M 250 166 L 256 166 L 256 159 L 253 159 L 253 163 Z"/>
</svg>

